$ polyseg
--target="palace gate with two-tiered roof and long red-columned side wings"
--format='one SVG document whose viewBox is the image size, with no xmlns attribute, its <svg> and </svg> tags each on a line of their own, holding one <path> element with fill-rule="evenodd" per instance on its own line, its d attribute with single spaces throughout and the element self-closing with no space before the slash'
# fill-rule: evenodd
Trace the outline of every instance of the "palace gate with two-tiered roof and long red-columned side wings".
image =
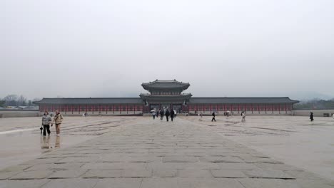
<svg viewBox="0 0 334 188">
<path fill-rule="evenodd" d="M 211 114 L 231 111 L 234 114 L 290 115 L 293 104 L 298 100 L 283 98 L 194 98 L 191 93 L 183 93 L 189 83 L 177 80 L 155 80 L 141 86 L 148 93 L 139 98 L 43 98 L 35 103 L 39 110 L 53 112 L 60 110 L 64 115 L 143 115 L 151 110 L 173 109 L 179 113 Z"/>
</svg>

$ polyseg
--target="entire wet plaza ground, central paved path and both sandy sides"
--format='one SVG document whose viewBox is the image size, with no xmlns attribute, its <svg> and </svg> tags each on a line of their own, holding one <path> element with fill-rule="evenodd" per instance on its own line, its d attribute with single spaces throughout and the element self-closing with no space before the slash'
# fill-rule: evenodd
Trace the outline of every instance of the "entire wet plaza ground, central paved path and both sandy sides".
<svg viewBox="0 0 334 188">
<path fill-rule="evenodd" d="M 11 165 L 0 169 L 0 187 L 334 187 L 334 143 L 326 140 L 326 134 L 334 132 L 333 119 L 319 117 L 313 125 L 307 117 L 293 116 L 249 116 L 243 123 L 240 116 L 218 116 L 217 122 L 210 116 L 199 119 L 65 117 L 59 147 L 45 147 L 49 142 L 42 142 L 36 128 L 39 117 L 1 119 L 3 140 L 17 134 L 11 125 L 29 122 L 23 131 L 35 141 L 23 145 L 38 150 L 34 157 L 17 164 L 11 159 Z M 323 140 L 315 145 L 311 138 L 305 140 L 303 135 L 310 132 Z M 36 140 L 42 140 L 41 145 Z M 300 147 L 304 141 L 305 148 Z M 9 142 L 1 151 L 6 147 L 15 146 Z M 22 155 L 15 150 L 21 149 L 11 148 L 11 157 L 19 160 Z M 312 158 L 318 154 L 328 158 Z M 332 171 L 303 166 L 313 160 Z"/>
</svg>

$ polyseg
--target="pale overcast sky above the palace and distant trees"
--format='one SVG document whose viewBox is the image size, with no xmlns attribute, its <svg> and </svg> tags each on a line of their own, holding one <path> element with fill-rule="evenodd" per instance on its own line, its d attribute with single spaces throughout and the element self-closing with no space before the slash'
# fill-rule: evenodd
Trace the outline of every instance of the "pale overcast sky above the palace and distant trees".
<svg viewBox="0 0 334 188">
<path fill-rule="evenodd" d="M 334 98 L 334 1 L 0 1 L 0 98 Z"/>
</svg>

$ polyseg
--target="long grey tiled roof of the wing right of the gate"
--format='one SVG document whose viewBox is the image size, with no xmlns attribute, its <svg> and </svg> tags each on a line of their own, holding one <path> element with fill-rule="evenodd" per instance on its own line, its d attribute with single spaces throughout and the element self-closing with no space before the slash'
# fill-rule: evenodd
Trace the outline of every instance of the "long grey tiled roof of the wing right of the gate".
<svg viewBox="0 0 334 188">
<path fill-rule="evenodd" d="M 298 100 L 291 100 L 288 97 L 285 98 L 190 98 L 189 103 L 299 103 Z"/>
</svg>

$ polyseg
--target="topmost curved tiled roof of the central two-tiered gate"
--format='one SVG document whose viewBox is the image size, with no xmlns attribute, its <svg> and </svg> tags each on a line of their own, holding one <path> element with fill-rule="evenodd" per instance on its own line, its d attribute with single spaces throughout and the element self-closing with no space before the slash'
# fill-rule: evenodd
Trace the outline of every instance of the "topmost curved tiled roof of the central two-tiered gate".
<svg viewBox="0 0 334 188">
<path fill-rule="evenodd" d="M 142 83 L 141 85 L 145 90 L 171 89 L 171 88 L 186 90 L 190 86 L 189 83 L 183 83 L 177 80 L 154 80 L 153 82 Z"/>
</svg>

